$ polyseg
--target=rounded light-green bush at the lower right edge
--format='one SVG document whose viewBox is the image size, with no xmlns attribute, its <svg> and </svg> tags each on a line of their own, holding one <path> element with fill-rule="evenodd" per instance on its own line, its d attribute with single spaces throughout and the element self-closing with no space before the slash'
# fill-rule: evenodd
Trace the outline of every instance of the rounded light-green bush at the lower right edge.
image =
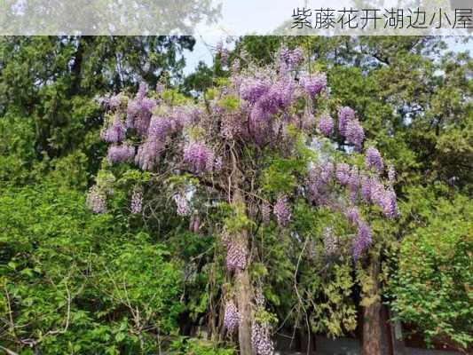
<svg viewBox="0 0 473 355">
<path fill-rule="evenodd" d="M 473 202 L 461 195 L 452 202 L 430 201 L 422 215 L 422 226 L 401 243 L 391 305 L 428 342 L 435 338 L 467 349 L 473 341 Z"/>
</svg>

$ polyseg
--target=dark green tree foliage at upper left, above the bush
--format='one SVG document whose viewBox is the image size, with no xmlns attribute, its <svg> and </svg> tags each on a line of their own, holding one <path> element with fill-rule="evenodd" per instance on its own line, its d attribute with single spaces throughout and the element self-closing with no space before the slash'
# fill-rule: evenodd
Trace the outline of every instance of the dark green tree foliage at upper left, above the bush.
<svg viewBox="0 0 473 355">
<path fill-rule="evenodd" d="M 86 187 L 104 154 L 93 99 L 141 79 L 155 86 L 178 78 L 193 44 L 172 36 L 1 37 L 0 184 L 41 180 L 66 157 L 83 170 L 74 182 Z"/>
</svg>

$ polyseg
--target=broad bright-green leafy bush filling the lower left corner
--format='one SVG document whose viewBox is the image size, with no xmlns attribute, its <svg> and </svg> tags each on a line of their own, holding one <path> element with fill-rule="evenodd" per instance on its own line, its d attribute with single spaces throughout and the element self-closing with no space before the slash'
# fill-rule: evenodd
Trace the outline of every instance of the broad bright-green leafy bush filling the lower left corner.
<svg viewBox="0 0 473 355">
<path fill-rule="evenodd" d="M 155 351 L 177 332 L 182 268 L 127 220 L 53 185 L 0 196 L 0 343 L 20 353 Z"/>
</svg>

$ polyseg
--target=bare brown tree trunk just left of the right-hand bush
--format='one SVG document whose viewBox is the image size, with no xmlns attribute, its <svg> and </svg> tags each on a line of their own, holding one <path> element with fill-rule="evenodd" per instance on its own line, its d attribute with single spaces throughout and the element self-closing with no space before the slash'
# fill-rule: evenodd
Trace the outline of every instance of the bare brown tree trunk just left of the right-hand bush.
<svg viewBox="0 0 473 355">
<path fill-rule="evenodd" d="M 362 355 L 381 355 L 381 297 L 379 285 L 380 264 L 379 259 L 375 256 L 371 258 L 369 266 L 370 278 L 373 282 L 369 298 L 372 303 L 363 309 L 363 340 Z"/>
</svg>

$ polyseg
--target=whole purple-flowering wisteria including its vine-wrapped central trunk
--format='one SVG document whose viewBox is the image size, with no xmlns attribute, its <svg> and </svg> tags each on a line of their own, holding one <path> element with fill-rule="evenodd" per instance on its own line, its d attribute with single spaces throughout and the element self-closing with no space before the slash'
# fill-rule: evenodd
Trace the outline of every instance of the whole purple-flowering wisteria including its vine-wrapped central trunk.
<svg viewBox="0 0 473 355">
<path fill-rule="evenodd" d="M 219 48 L 218 57 L 226 65 L 228 51 Z M 88 204 L 106 212 L 117 181 L 113 164 L 123 167 L 115 175 L 133 166 L 147 171 L 146 182 L 130 186 L 131 212 L 149 214 L 146 199 L 160 191 L 193 232 L 219 236 L 230 285 L 222 297 L 226 333 L 238 333 L 242 354 L 266 355 L 275 319 L 261 292 L 264 276 L 251 272 L 264 267 L 264 248 L 272 248 L 258 242 L 264 225 L 300 242 L 293 209 L 306 201 L 350 225 L 343 238 L 326 231 L 326 254 L 343 244 L 359 260 L 373 242 L 367 211 L 397 216 L 395 172 L 365 142 L 360 117 L 330 98 L 327 75 L 314 71 L 300 49 L 280 48 L 265 67 L 243 53 L 228 73 L 197 102 L 145 83 L 136 95 L 99 99 L 107 111 L 101 137 L 110 146 Z M 209 209 L 223 217 L 201 224 Z"/>
</svg>

